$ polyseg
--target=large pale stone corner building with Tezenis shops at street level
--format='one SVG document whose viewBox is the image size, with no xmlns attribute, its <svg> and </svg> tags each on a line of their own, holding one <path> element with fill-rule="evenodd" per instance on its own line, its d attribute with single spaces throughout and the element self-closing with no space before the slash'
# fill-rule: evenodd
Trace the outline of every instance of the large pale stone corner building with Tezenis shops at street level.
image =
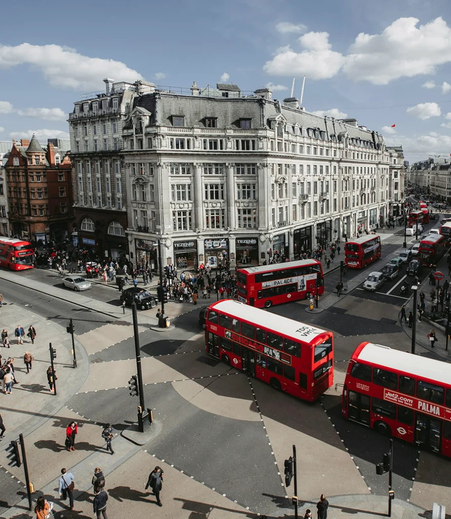
<svg viewBox="0 0 451 519">
<path fill-rule="evenodd" d="M 389 152 L 381 135 L 355 119 L 319 117 L 295 98 L 281 103 L 268 89 L 244 95 L 236 85 L 200 89 L 194 84 L 176 93 L 142 81 L 114 83 L 96 100 L 114 95 L 114 114 L 94 116 L 91 105 L 81 117 L 70 114 L 73 149 L 74 125 L 79 118 L 87 125 L 88 152 L 73 153 L 79 168 L 76 213 L 81 223 L 104 211 L 86 200 L 91 193 L 92 204 L 101 198 L 103 206 L 106 182 L 105 153 L 89 149 L 93 125 L 113 117 L 120 125 L 119 148 L 108 160 L 118 161 L 111 176 L 120 178 L 126 199 L 120 209 L 111 208 L 111 218 L 127 208 L 124 230 L 135 264 L 157 267 L 158 239 L 163 263 L 181 269 L 200 263 L 215 267 L 224 259 L 231 266 L 257 265 L 276 250 L 295 259 L 303 248 L 352 238 L 389 216 Z M 93 177 L 98 167 L 101 181 L 90 189 L 88 156 L 88 171 Z M 94 223 L 90 232 L 96 228 Z"/>
</svg>

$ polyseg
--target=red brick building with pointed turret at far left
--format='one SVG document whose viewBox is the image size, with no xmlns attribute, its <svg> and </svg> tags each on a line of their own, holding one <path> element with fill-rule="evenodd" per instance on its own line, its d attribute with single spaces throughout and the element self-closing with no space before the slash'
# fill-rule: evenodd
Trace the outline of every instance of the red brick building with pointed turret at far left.
<svg viewBox="0 0 451 519">
<path fill-rule="evenodd" d="M 8 220 L 12 236 L 57 243 L 72 230 L 72 165 L 49 142 L 13 142 L 5 165 Z M 56 155 L 58 158 L 56 158 Z"/>
</svg>

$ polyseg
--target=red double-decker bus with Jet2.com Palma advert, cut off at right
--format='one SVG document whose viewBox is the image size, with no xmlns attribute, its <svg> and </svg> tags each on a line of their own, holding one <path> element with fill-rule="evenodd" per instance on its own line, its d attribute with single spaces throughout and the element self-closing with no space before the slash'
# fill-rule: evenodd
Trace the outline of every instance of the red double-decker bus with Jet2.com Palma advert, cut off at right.
<svg viewBox="0 0 451 519">
<path fill-rule="evenodd" d="M 451 365 L 362 343 L 346 372 L 342 413 L 381 433 L 451 456 Z"/>
</svg>

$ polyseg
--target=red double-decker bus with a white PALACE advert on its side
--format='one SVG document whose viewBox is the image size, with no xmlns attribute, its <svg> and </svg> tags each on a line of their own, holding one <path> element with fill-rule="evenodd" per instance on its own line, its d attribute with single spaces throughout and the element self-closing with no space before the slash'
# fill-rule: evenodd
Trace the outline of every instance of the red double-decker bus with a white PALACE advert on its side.
<svg viewBox="0 0 451 519">
<path fill-rule="evenodd" d="M 257 308 L 308 299 L 324 293 L 321 263 L 300 260 L 237 271 L 238 301 Z"/>
</svg>

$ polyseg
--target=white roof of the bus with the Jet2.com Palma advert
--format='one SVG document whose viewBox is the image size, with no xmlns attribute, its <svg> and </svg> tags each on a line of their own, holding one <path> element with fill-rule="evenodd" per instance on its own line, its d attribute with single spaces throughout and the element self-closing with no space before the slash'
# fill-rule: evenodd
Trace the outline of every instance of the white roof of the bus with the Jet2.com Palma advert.
<svg viewBox="0 0 451 519">
<path fill-rule="evenodd" d="M 381 344 L 369 343 L 364 346 L 358 360 L 451 385 L 451 364 L 394 350 Z"/>
</svg>

